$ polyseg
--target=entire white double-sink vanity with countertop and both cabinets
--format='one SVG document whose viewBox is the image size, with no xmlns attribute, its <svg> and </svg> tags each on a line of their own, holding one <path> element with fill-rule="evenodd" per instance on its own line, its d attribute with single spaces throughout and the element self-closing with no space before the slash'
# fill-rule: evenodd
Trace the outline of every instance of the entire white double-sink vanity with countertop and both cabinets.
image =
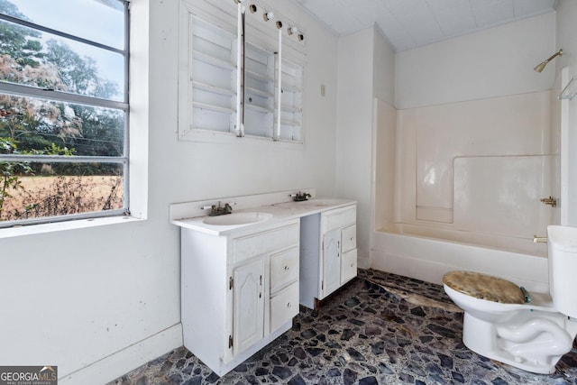
<svg viewBox="0 0 577 385">
<path fill-rule="evenodd" d="M 233 214 L 206 215 L 220 201 Z M 351 200 L 228 197 L 171 205 L 170 217 L 181 234 L 184 345 L 219 376 L 289 330 L 299 301 L 313 307 L 356 276 Z"/>
</svg>

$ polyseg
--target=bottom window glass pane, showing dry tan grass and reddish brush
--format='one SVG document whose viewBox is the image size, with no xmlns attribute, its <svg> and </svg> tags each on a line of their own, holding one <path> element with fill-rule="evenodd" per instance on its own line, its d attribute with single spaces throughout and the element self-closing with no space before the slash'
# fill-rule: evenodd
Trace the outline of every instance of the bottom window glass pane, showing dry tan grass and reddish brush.
<svg viewBox="0 0 577 385">
<path fill-rule="evenodd" d="M 0 161 L 0 170 L 10 170 L 17 186 L 10 196 L 0 197 L 0 223 L 124 205 L 122 164 Z"/>
</svg>

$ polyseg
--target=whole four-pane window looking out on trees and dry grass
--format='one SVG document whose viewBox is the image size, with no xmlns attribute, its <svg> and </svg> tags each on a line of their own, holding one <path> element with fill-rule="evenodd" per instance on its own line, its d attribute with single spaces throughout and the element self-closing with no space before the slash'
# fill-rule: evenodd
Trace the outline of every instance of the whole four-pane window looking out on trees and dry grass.
<svg viewBox="0 0 577 385">
<path fill-rule="evenodd" d="M 128 213 L 125 0 L 0 0 L 0 227 Z"/>
</svg>

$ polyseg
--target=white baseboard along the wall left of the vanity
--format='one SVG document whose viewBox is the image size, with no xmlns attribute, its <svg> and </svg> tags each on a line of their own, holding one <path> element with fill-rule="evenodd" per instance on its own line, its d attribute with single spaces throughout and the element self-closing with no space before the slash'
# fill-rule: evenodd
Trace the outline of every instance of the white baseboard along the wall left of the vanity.
<svg viewBox="0 0 577 385">
<path fill-rule="evenodd" d="M 182 324 L 179 323 L 90 363 L 78 371 L 64 375 L 59 379 L 59 384 L 102 385 L 180 346 L 182 346 Z"/>
</svg>

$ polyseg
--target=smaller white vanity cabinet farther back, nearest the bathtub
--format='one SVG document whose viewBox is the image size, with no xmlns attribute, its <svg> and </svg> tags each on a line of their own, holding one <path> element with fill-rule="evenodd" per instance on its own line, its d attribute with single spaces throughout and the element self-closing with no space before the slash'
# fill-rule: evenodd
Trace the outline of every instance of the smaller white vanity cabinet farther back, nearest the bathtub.
<svg viewBox="0 0 577 385">
<path fill-rule="evenodd" d="M 357 275 L 356 204 L 301 218 L 300 303 L 321 300 Z"/>
</svg>

